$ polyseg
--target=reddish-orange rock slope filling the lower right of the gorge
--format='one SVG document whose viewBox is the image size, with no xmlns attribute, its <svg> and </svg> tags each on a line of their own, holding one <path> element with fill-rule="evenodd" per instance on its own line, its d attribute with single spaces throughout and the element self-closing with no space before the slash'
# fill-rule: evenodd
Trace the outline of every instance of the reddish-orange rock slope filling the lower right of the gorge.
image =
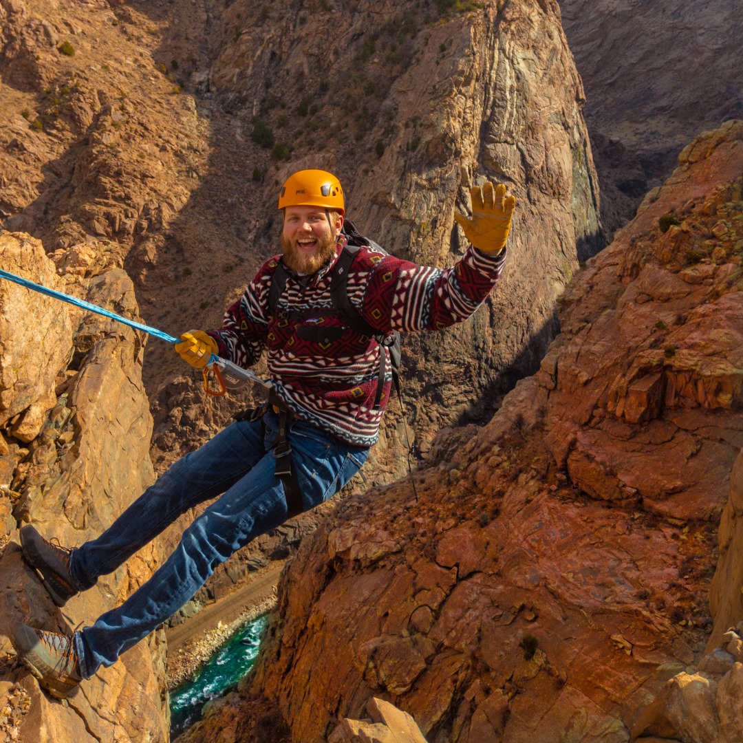
<svg viewBox="0 0 743 743">
<path fill-rule="evenodd" d="M 432 743 L 625 742 L 637 720 L 635 733 L 672 737 L 658 727 L 669 719 L 678 739 L 709 739 L 687 736 L 704 718 L 666 714 L 662 695 L 642 715 L 701 659 L 729 490 L 720 548 L 743 549 L 730 478 L 743 444 L 742 172 L 742 122 L 684 149 L 568 288 L 562 334 L 490 424 L 443 432 L 415 490 L 346 499 L 303 542 L 252 685 L 224 719 L 239 718 L 241 694 L 263 694 L 292 740 L 322 741 L 377 696 Z M 737 562 L 724 564 L 720 636 L 742 618 L 718 594 L 726 581 L 739 594 Z M 728 709 L 718 724 L 737 719 Z M 218 739 L 221 724 L 212 710 L 186 739 Z M 730 730 L 726 741 L 743 735 Z"/>
</svg>

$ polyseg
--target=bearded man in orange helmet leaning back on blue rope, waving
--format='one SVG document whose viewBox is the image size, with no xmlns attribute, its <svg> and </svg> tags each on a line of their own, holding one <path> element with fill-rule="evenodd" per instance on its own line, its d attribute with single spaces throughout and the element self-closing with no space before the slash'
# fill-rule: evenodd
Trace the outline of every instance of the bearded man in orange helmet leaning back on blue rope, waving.
<svg viewBox="0 0 743 743">
<path fill-rule="evenodd" d="M 473 247 L 449 270 L 361 247 L 345 291 L 375 337 L 354 330 L 331 302 L 345 247 L 343 189 L 331 173 L 300 171 L 279 195 L 282 256 L 263 265 L 221 328 L 190 331 L 176 350 L 203 368 L 212 354 L 247 368 L 267 351 L 273 387 L 262 418 L 238 420 L 177 461 L 98 539 L 60 547 L 27 525 L 25 559 L 57 606 L 114 571 L 189 508 L 198 516 L 158 571 L 121 606 L 72 637 L 19 623 L 13 644 L 52 695 L 69 695 L 100 666 L 181 608 L 215 567 L 288 516 L 337 493 L 362 467 L 389 398 L 384 344 L 394 331 L 436 330 L 476 310 L 499 279 L 516 200 L 485 183 L 471 190 L 472 218 L 455 214 Z M 283 267 L 280 264 L 283 264 Z M 339 270 L 340 271 L 340 270 Z M 285 284 L 271 308 L 271 287 Z M 276 291 L 276 289 L 274 289 Z"/>
</svg>

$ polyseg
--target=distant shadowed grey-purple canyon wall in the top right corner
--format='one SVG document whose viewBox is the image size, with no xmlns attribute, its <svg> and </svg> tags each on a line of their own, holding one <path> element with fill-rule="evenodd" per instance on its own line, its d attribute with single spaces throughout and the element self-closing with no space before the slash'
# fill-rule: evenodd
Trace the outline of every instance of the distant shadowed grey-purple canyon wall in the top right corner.
<svg viewBox="0 0 743 743">
<path fill-rule="evenodd" d="M 611 239 L 699 132 L 743 117 L 743 33 L 730 0 L 559 0 L 586 91 Z"/>
</svg>

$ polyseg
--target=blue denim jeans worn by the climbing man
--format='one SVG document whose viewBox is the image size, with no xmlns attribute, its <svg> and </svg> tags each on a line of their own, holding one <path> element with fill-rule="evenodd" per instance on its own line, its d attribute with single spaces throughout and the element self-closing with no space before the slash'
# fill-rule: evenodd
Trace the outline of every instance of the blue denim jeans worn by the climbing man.
<svg viewBox="0 0 743 743">
<path fill-rule="evenodd" d="M 163 473 L 103 534 L 72 552 L 71 576 L 82 590 L 111 573 L 189 508 L 223 493 L 181 536 L 155 574 L 121 606 L 74 635 L 83 678 L 110 666 L 204 585 L 220 562 L 288 515 L 273 474 L 278 418 L 237 421 Z M 288 432 L 305 510 L 337 493 L 360 470 L 369 449 L 351 447 L 304 421 Z"/>
</svg>

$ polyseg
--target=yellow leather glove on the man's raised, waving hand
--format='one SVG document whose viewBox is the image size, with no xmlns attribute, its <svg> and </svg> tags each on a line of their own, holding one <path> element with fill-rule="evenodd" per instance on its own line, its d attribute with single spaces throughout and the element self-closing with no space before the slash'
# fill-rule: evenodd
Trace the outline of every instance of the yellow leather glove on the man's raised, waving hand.
<svg viewBox="0 0 743 743">
<path fill-rule="evenodd" d="M 498 184 L 493 189 L 490 181 L 470 189 L 472 218 L 458 212 L 454 218 L 464 230 L 464 236 L 483 253 L 496 256 L 503 250 L 510 230 L 516 197 L 506 196 L 506 187 Z"/>
</svg>

